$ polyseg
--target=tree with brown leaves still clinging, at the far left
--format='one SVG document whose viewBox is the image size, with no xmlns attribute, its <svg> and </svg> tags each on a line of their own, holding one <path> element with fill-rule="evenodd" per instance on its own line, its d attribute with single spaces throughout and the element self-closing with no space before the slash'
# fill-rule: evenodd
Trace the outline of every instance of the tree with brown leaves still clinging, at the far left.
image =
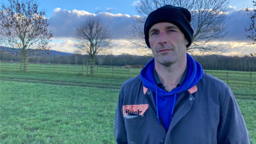
<svg viewBox="0 0 256 144">
<path fill-rule="evenodd" d="M 39 10 L 39 3 L 33 0 L 8 0 L 10 5 L 0 8 L 0 51 L 22 55 L 47 53 L 53 36 L 47 29 L 49 23 L 45 10 Z"/>
</svg>

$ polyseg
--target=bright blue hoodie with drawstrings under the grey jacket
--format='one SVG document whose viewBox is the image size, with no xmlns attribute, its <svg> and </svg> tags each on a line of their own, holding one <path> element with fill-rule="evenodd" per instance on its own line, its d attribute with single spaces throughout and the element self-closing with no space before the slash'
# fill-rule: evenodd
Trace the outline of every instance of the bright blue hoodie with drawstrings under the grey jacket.
<svg viewBox="0 0 256 144">
<path fill-rule="evenodd" d="M 152 58 L 141 70 L 140 78 L 143 86 L 154 92 L 158 124 L 160 115 L 163 121 L 163 126 L 168 130 L 170 122 L 172 121 L 173 109 L 179 93 L 184 92 L 197 84 L 201 79 L 204 70 L 202 70 L 201 65 L 187 53 L 187 76 L 181 86 L 167 93 L 165 90 L 159 88 L 154 80 L 154 66 L 155 62 L 154 58 Z"/>
</svg>

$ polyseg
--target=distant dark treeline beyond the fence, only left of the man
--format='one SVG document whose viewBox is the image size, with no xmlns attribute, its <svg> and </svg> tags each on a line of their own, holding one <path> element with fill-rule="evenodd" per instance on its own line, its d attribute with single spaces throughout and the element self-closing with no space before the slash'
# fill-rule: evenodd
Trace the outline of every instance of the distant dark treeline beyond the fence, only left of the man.
<svg viewBox="0 0 256 144">
<path fill-rule="evenodd" d="M 2 61 L 20 61 L 21 56 L 10 54 L 9 52 L 0 53 Z M 151 56 L 136 56 L 129 54 L 121 55 L 97 55 L 95 58 L 96 65 L 106 66 L 125 66 L 125 65 L 145 65 L 152 57 Z M 29 62 L 44 62 L 44 63 L 69 63 L 69 64 L 86 64 L 90 60 L 88 55 L 45 55 L 45 56 L 30 56 Z"/>
</svg>

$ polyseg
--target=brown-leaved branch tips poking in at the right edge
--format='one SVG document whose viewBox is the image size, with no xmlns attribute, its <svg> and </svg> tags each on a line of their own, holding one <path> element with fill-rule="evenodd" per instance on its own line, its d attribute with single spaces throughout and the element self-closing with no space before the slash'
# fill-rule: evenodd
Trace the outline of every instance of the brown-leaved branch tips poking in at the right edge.
<svg viewBox="0 0 256 144">
<path fill-rule="evenodd" d="M 249 34 L 246 35 L 246 37 L 248 39 L 252 39 L 253 40 L 253 45 L 256 48 L 256 28 L 255 28 L 255 17 L 256 17 L 256 1 L 252 1 L 253 2 L 253 10 L 250 10 L 249 8 L 244 8 L 244 10 L 246 12 L 248 12 L 248 16 L 250 17 L 250 19 L 252 20 L 252 22 L 250 23 L 250 27 L 249 28 L 245 28 L 245 31 L 248 32 Z M 250 56 L 246 56 L 246 57 L 251 57 L 251 59 L 255 58 L 254 56 L 256 56 L 256 53 L 251 53 Z"/>
</svg>

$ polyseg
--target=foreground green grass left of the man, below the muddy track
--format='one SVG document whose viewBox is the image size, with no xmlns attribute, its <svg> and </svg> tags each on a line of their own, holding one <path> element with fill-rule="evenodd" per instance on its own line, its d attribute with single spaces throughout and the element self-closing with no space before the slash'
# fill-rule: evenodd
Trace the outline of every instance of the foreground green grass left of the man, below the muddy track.
<svg viewBox="0 0 256 144">
<path fill-rule="evenodd" d="M 119 89 L 0 81 L 1 143 L 114 143 Z"/>
</svg>

